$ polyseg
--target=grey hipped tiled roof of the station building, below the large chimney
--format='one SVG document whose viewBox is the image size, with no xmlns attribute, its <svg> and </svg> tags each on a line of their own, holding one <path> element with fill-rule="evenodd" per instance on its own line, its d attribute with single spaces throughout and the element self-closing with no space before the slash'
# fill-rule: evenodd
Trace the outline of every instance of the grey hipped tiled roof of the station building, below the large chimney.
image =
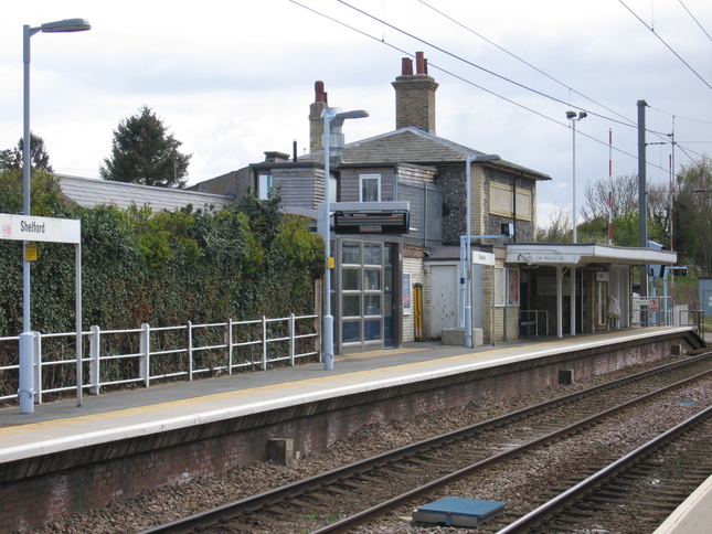
<svg viewBox="0 0 712 534">
<path fill-rule="evenodd" d="M 415 163 L 438 165 L 464 162 L 467 157 L 482 156 L 483 153 L 408 126 L 348 143 L 343 147 L 342 158 L 344 164 Z M 323 161 L 323 150 L 299 158 L 299 161 Z M 506 160 L 492 161 L 489 164 L 509 171 L 523 172 L 534 180 L 551 180 L 548 174 Z"/>
</svg>

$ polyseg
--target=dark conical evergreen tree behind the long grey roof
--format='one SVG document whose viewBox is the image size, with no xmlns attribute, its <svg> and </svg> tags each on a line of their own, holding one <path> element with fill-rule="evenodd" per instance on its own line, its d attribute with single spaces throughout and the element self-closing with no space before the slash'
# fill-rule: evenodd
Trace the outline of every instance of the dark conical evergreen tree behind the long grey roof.
<svg viewBox="0 0 712 534">
<path fill-rule="evenodd" d="M 99 174 L 116 182 L 184 188 L 192 154 L 179 152 L 181 145 L 161 119 L 144 106 L 138 115 L 121 120 L 114 130 L 111 156 L 104 160 Z"/>
</svg>

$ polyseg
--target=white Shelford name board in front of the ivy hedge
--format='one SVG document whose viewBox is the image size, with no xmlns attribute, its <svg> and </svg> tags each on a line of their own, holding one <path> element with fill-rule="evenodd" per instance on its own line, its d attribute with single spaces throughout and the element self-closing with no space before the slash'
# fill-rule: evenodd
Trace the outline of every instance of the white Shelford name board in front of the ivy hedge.
<svg viewBox="0 0 712 534">
<path fill-rule="evenodd" d="M 47 243 L 73 243 L 82 239 L 82 222 L 72 218 L 34 217 L 0 213 L 0 238 Z"/>
</svg>

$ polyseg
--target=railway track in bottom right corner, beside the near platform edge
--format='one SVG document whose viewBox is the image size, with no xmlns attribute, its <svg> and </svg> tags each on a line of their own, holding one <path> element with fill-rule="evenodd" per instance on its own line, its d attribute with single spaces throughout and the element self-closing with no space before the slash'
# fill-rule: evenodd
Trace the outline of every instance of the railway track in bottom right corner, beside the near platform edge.
<svg viewBox="0 0 712 534">
<path fill-rule="evenodd" d="M 655 437 L 499 534 L 652 532 L 712 473 L 712 407 Z"/>
</svg>

